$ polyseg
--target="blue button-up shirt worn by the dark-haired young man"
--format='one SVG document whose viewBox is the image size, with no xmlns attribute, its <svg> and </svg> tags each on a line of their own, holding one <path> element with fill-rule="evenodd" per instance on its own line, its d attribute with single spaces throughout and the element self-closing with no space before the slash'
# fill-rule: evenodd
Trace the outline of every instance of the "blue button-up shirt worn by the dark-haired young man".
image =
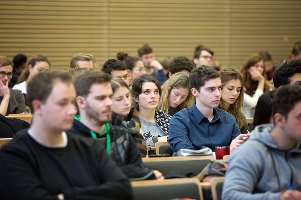
<svg viewBox="0 0 301 200">
<path fill-rule="evenodd" d="M 240 134 L 233 115 L 214 108 L 209 120 L 194 105 L 172 116 L 169 122 L 169 144 L 174 152 L 185 148 L 199 150 L 203 146 L 214 151 L 215 146 L 229 146 Z"/>
</svg>

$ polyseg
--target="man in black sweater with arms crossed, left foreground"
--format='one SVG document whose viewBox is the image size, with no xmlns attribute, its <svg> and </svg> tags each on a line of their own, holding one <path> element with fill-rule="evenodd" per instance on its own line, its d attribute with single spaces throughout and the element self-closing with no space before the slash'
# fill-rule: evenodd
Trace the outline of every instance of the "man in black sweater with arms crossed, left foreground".
<svg viewBox="0 0 301 200">
<path fill-rule="evenodd" d="M 76 92 L 65 72 L 28 82 L 33 124 L 0 152 L 0 199 L 132 199 L 127 177 L 101 143 L 68 134 Z"/>
</svg>

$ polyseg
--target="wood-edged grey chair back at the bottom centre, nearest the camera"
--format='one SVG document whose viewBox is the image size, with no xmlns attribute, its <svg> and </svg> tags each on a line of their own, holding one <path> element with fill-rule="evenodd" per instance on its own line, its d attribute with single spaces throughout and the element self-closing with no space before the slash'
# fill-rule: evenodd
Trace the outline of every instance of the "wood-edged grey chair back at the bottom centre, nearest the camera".
<svg viewBox="0 0 301 200">
<path fill-rule="evenodd" d="M 203 200 L 200 181 L 196 178 L 175 178 L 162 181 L 131 181 L 134 200 L 189 198 Z"/>
</svg>

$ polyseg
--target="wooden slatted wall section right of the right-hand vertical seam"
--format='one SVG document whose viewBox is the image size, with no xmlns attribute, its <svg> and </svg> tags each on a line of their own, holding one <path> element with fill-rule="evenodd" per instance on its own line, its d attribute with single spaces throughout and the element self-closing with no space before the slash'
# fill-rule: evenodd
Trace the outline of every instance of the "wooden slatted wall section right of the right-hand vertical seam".
<svg viewBox="0 0 301 200">
<path fill-rule="evenodd" d="M 278 64 L 289 58 L 301 40 L 301 1 L 231 1 L 229 63 L 240 68 L 244 59 L 268 51 Z"/>
</svg>

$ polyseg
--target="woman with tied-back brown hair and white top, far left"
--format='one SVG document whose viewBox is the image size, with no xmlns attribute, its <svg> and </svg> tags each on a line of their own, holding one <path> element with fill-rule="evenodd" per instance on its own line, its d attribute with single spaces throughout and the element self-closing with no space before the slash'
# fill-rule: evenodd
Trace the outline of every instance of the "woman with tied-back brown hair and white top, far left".
<svg viewBox="0 0 301 200">
<path fill-rule="evenodd" d="M 18 84 L 14 85 L 13 90 L 20 90 L 23 94 L 27 94 L 27 82 L 36 74 L 45 70 L 49 70 L 50 62 L 44 55 L 35 55 L 28 62 L 28 68 L 24 70 L 18 80 Z"/>
</svg>

